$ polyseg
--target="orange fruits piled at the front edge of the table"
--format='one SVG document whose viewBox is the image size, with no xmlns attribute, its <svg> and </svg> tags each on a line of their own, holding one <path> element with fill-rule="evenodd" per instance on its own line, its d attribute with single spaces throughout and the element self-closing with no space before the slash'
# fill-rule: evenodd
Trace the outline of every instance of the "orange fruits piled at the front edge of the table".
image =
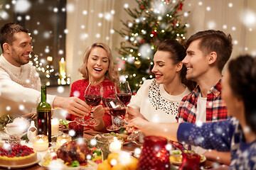
<svg viewBox="0 0 256 170">
<path fill-rule="evenodd" d="M 139 160 L 134 157 L 129 157 L 128 160 L 123 160 L 119 159 L 120 154 L 119 153 L 110 153 L 107 156 L 107 159 L 105 159 L 101 164 L 97 166 L 97 170 L 102 170 L 102 169 L 124 169 L 124 170 L 136 170 L 137 169 L 137 164 Z M 113 164 L 114 162 L 114 164 Z"/>
</svg>

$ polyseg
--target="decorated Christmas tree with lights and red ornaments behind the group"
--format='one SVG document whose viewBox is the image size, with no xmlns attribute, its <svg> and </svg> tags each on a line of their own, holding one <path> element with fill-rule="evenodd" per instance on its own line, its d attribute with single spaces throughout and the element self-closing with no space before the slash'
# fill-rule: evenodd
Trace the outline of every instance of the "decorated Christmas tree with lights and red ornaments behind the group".
<svg viewBox="0 0 256 170">
<path fill-rule="evenodd" d="M 185 40 L 186 24 L 181 23 L 183 1 L 136 0 L 139 8 L 124 8 L 132 21 L 121 21 L 125 28 L 117 30 L 126 42 L 118 49 L 119 74 L 136 92 L 146 79 L 151 79 L 154 53 L 166 39 Z"/>
</svg>

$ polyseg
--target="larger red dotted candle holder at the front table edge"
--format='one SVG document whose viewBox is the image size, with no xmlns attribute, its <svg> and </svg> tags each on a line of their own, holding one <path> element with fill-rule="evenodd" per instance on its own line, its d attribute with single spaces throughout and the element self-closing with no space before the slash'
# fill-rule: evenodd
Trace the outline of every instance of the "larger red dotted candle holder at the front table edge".
<svg viewBox="0 0 256 170">
<path fill-rule="evenodd" d="M 164 137 L 144 137 L 142 153 L 139 157 L 139 170 L 169 170 L 171 167 L 167 140 Z"/>
</svg>

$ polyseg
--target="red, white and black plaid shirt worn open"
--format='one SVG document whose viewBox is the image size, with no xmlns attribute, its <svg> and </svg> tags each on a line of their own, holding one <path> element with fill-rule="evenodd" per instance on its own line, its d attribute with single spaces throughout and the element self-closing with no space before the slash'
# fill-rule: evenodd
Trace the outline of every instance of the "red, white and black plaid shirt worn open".
<svg viewBox="0 0 256 170">
<path fill-rule="evenodd" d="M 227 108 L 220 97 L 220 91 L 221 85 L 220 81 L 218 81 L 218 84 L 207 92 L 206 122 L 215 122 L 228 118 Z M 183 97 L 178 108 L 178 115 L 176 116 L 178 122 L 196 123 L 196 108 L 199 94 L 200 88 L 197 86 L 190 94 Z"/>
</svg>

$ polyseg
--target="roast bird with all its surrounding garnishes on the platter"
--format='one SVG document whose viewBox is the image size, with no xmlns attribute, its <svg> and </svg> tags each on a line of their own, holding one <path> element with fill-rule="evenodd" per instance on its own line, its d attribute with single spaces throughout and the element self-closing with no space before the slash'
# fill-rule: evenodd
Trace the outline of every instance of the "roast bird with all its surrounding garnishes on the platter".
<svg viewBox="0 0 256 170">
<path fill-rule="evenodd" d="M 87 160 L 90 159 L 90 160 Z M 43 157 L 42 165 L 47 167 L 91 167 L 102 163 L 102 152 L 89 148 L 85 142 L 69 141 L 61 147 L 52 147 Z"/>
</svg>

